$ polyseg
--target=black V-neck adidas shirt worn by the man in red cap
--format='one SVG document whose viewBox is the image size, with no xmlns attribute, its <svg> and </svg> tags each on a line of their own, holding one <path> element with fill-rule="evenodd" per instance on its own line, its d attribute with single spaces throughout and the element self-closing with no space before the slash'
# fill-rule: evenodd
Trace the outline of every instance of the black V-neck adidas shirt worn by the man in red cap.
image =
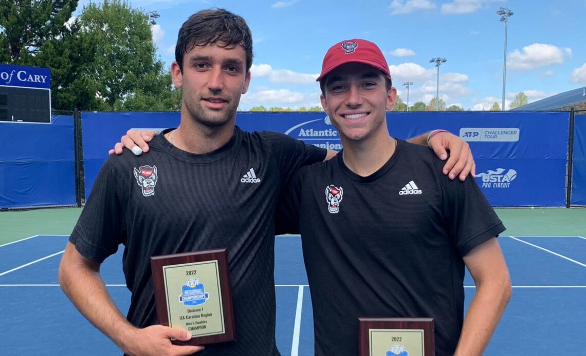
<svg viewBox="0 0 586 356">
<path fill-rule="evenodd" d="M 355 356 L 362 316 L 433 317 L 435 354 L 454 353 L 464 319 L 462 256 L 505 227 L 474 178 L 450 181 L 443 165 L 429 148 L 397 140 L 369 177 L 350 171 L 339 153 L 291 179 L 277 223 L 299 222 L 317 356 Z"/>
</svg>

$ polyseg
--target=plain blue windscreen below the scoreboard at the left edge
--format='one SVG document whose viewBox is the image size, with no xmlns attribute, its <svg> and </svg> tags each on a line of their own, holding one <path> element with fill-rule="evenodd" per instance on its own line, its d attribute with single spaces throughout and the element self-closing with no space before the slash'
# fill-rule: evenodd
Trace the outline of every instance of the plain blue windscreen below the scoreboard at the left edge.
<svg viewBox="0 0 586 356">
<path fill-rule="evenodd" d="M 0 122 L 0 208 L 76 204 L 73 116 Z"/>
</svg>

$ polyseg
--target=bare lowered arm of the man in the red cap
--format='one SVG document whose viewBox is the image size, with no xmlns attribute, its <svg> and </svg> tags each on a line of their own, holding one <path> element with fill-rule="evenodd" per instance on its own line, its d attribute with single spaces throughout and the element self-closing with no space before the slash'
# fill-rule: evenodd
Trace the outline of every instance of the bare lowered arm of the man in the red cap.
<svg viewBox="0 0 586 356">
<path fill-rule="evenodd" d="M 474 279 L 476 293 L 466 312 L 454 355 L 482 355 L 509 303 L 509 270 L 496 237 L 473 248 L 464 256 L 464 263 Z"/>
</svg>

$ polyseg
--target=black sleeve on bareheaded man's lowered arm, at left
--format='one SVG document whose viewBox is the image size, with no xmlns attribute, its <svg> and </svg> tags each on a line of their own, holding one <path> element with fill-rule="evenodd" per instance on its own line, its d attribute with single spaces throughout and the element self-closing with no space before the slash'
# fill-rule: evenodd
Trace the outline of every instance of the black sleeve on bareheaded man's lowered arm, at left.
<svg viewBox="0 0 586 356">
<path fill-rule="evenodd" d="M 100 168 L 86 206 L 69 237 L 81 255 L 99 263 L 116 253 L 125 237 L 124 209 L 117 190 L 120 185 L 113 167 L 115 158 L 108 158 Z"/>
</svg>

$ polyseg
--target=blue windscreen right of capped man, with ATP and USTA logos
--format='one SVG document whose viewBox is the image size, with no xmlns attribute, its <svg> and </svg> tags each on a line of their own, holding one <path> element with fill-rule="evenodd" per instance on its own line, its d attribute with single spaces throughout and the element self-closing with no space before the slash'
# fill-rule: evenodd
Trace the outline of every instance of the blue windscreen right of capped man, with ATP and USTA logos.
<svg viewBox="0 0 586 356">
<path fill-rule="evenodd" d="M 406 116 L 408 115 L 408 116 Z M 567 112 L 391 113 L 390 132 L 446 129 L 470 144 L 476 182 L 493 206 L 564 206 Z"/>
</svg>

